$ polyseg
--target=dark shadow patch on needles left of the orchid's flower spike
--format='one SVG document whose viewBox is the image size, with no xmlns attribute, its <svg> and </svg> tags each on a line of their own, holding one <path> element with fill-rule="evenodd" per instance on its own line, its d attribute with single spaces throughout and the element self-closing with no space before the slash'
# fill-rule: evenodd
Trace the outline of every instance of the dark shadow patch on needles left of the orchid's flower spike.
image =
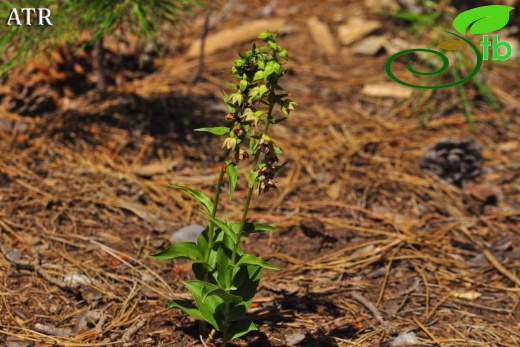
<svg viewBox="0 0 520 347">
<path fill-rule="evenodd" d="M 211 96 L 204 100 L 174 93 L 153 98 L 135 93 L 102 97 L 112 100 L 100 110 L 70 109 L 62 111 L 59 117 L 56 114 L 46 115 L 46 133 L 65 141 L 83 139 L 91 145 L 98 145 L 96 136 L 93 136 L 96 129 L 110 127 L 126 132 L 130 142 L 143 135 L 159 141 L 173 140 L 179 144 L 200 140 L 206 142 L 210 135 L 194 133 L 193 129 L 219 125 L 223 118 L 221 110 L 208 109 L 208 104 L 220 102 Z"/>
</svg>

